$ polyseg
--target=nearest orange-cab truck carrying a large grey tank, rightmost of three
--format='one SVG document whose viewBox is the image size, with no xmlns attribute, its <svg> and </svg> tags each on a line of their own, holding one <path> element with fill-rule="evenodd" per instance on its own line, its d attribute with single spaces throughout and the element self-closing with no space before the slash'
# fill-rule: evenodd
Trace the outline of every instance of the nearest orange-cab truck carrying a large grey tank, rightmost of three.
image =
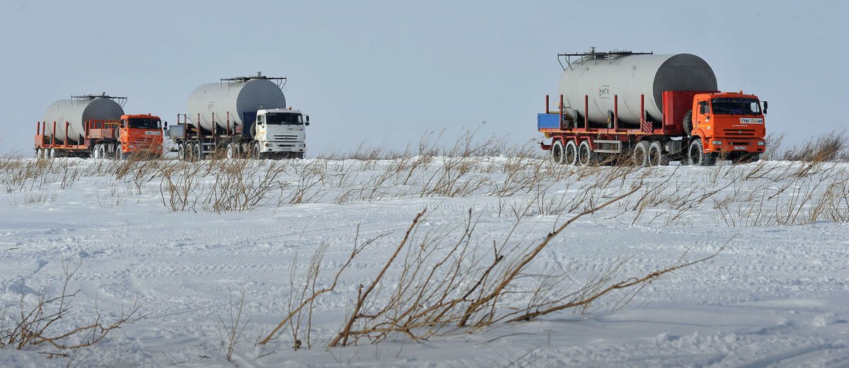
<svg viewBox="0 0 849 368">
<path fill-rule="evenodd" d="M 546 96 L 537 130 L 552 139 L 540 145 L 559 164 L 625 156 L 638 166 L 711 166 L 717 159 L 757 161 L 764 152 L 767 101 L 719 92 L 710 65 L 698 56 L 590 48 L 558 60 L 557 109 L 549 109 Z"/>
</svg>

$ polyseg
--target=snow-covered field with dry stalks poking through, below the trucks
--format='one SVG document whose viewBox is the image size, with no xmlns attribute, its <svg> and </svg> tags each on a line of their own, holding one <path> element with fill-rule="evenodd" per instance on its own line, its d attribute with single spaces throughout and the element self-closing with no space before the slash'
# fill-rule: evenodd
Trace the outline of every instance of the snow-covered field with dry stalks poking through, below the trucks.
<svg viewBox="0 0 849 368">
<path fill-rule="evenodd" d="M 849 164 L 829 162 L 7 157 L 0 366 L 849 366 L 847 183 Z M 408 297 L 431 271 L 432 287 L 492 288 L 549 233 L 608 201 L 548 241 L 492 310 L 472 318 L 492 313 L 491 323 L 368 325 L 369 315 L 427 309 Z M 503 261 L 475 289 L 496 253 Z M 507 321 L 704 258 L 593 303 Z M 329 348 L 384 268 L 352 326 L 374 330 Z M 9 343 L 39 297 L 63 295 L 66 275 L 65 294 L 76 295 L 42 337 L 136 313 L 84 348 Z M 51 341 L 85 343 L 93 332 Z"/>
</svg>

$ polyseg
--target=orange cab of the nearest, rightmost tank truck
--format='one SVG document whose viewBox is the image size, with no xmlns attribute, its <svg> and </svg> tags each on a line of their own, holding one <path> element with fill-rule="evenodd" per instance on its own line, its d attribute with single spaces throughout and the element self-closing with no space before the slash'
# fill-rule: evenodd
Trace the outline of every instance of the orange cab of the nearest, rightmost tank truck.
<svg viewBox="0 0 849 368">
<path fill-rule="evenodd" d="M 742 91 L 696 93 L 692 108 L 684 117 L 684 129 L 692 136 L 691 155 L 700 150 L 709 161 L 721 155 L 733 161 L 749 161 L 763 153 L 766 101 L 761 105 L 756 95 Z"/>
</svg>

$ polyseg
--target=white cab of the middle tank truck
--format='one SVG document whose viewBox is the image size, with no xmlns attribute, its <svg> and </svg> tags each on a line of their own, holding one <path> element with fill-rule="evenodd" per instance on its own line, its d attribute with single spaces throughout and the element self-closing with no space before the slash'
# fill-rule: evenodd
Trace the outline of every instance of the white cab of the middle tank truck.
<svg viewBox="0 0 849 368">
<path fill-rule="evenodd" d="M 301 110 L 256 110 L 254 140 L 262 156 L 303 158 L 306 153 L 306 132 L 310 116 Z"/>
</svg>

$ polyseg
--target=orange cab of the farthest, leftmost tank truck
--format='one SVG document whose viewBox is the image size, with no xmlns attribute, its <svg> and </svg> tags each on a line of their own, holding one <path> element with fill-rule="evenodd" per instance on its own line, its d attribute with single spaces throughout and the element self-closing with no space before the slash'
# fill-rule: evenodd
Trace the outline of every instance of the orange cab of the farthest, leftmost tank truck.
<svg viewBox="0 0 849 368">
<path fill-rule="evenodd" d="M 122 154 L 139 151 L 162 154 L 162 122 L 159 116 L 122 115 L 118 137 Z"/>
</svg>

